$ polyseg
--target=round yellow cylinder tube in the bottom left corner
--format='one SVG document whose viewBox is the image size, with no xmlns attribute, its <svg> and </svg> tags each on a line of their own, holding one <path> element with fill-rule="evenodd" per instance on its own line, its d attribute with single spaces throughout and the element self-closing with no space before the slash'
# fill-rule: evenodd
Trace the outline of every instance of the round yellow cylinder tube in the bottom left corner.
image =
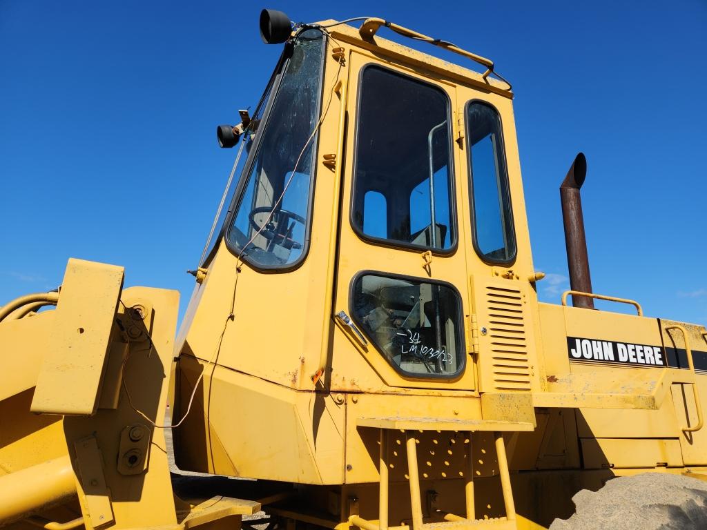
<svg viewBox="0 0 707 530">
<path fill-rule="evenodd" d="M 0 476 L 0 526 L 76 496 L 68 457 Z"/>
</svg>

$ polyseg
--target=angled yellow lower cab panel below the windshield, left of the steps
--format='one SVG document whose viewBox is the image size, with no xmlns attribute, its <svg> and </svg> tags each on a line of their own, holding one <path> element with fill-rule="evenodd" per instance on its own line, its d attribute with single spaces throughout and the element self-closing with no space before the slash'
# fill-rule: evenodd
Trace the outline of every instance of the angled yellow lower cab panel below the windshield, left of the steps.
<svg viewBox="0 0 707 530">
<path fill-rule="evenodd" d="M 186 356 L 180 358 L 180 394 L 191 394 L 202 370 L 206 375 L 192 413 L 173 433 L 182 448 L 178 466 L 276 481 L 343 483 L 343 395 L 298 392 Z M 216 405 L 223 403 L 238 406 Z M 184 411 L 176 407 L 173 413 L 180 418 Z M 377 469 L 376 461 L 371 464 Z"/>
</svg>

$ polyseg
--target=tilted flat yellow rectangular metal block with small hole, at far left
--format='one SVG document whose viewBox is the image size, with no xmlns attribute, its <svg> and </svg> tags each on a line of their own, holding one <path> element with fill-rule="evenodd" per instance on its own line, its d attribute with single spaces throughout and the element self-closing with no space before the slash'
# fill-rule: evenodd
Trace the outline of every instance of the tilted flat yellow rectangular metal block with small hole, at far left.
<svg viewBox="0 0 707 530">
<path fill-rule="evenodd" d="M 95 413 L 122 284 L 122 267 L 69 259 L 33 412 Z"/>
</svg>

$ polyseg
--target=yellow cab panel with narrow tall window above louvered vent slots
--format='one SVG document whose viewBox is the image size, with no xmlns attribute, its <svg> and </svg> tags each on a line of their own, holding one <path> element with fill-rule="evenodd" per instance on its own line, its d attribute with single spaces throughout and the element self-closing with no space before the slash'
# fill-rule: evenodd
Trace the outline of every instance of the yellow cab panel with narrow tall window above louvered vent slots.
<svg viewBox="0 0 707 530">
<path fill-rule="evenodd" d="M 481 392 L 541 388 L 537 293 L 510 95 L 457 86 L 472 333 Z"/>
</svg>

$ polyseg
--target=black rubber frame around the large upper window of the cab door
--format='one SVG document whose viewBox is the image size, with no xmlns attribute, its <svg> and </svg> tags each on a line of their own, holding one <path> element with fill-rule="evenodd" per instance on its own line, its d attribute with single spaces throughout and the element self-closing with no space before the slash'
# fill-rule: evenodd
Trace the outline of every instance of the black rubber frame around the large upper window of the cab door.
<svg viewBox="0 0 707 530">
<path fill-rule="evenodd" d="M 366 233 L 363 232 L 363 226 L 361 226 L 361 229 L 356 226 L 356 221 L 354 220 L 354 213 L 356 211 L 356 184 L 358 183 L 358 179 L 356 178 L 356 174 L 358 172 L 358 139 L 359 139 L 359 132 L 360 132 L 360 125 L 361 125 L 361 95 L 363 94 L 363 74 L 366 72 L 368 69 L 378 69 L 382 70 L 388 73 L 392 73 L 395 76 L 407 79 L 408 81 L 413 81 L 415 83 L 419 83 L 422 85 L 430 86 L 431 88 L 435 90 L 439 90 L 440 93 L 442 93 L 447 101 L 447 126 L 448 126 L 448 136 L 449 136 L 449 216 L 450 216 L 450 230 L 453 228 L 453 235 L 452 237 L 450 235 L 450 247 L 448 249 L 438 249 L 438 248 L 433 248 L 433 247 L 426 247 L 424 245 L 413 245 L 411 243 L 404 243 L 401 241 L 396 241 L 396 240 L 390 240 L 387 238 L 383 237 L 373 237 L 371 235 L 367 235 Z M 459 225 L 457 223 L 457 190 L 456 190 L 456 174 L 455 174 L 455 155 L 454 155 L 454 141 L 453 141 L 453 136 L 454 136 L 454 131 L 452 129 L 452 98 L 450 98 L 449 93 L 447 93 L 446 90 L 443 90 L 443 88 L 437 86 L 434 83 L 431 83 L 429 81 L 416 78 L 415 76 L 411 76 L 407 73 L 402 73 L 399 72 L 395 69 L 391 68 L 386 68 L 385 66 L 381 66 L 378 63 L 374 62 L 369 62 L 361 66 L 361 69 L 358 72 L 358 84 L 357 84 L 357 93 L 356 93 L 356 122 L 354 123 L 354 158 L 352 160 L 352 170 L 351 170 L 351 198 L 349 199 L 349 224 L 351 225 L 351 230 L 354 230 L 354 233 L 363 241 L 370 243 L 372 245 L 378 246 L 378 247 L 385 247 L 385 248 L 390 248 L 390 249 L 397 249 L 397 250 L 405 250 L 409 252 L 427 252 L 428 250 L 432 252 L 433 255 L 440 256 L 440 257 L 448 257 L 452 256 L 457 252 L 457 248 L 459 247 Z M 373 188 L 371 188 L 373 189 Z M 370 191 L 370 190 L 366 190 Z M 375 189 L 375 191 L 380 192 L 380 190 Z M 388 202 L 387 197 L 385 194 L 382 194 L 385 197 L 386 203 Z M 364 194 L 365 197 L 365 194 Z"/>
</svg>

